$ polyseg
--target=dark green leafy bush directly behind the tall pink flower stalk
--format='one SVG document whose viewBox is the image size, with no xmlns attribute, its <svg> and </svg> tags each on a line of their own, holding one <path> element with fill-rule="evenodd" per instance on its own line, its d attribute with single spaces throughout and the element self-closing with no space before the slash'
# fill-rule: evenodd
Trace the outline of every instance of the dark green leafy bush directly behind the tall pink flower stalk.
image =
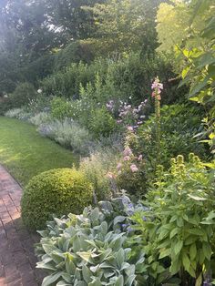
<svg viewBox="0 0 215 286">
<path fill-rule="evenodd" d="M 160 118 L 160 164 L 168 167 L 169 159 L 182 154 L 186 158 L 195 152 L 200 158 L 206 159 L 209 152 L 207 146 L 193 138 L 202 130 L 201 110 L 184 104 L 164 106 Z M 156 166 L 155 116 L 152 115 L 138 129 L 138 150 Z"/>
</svg>

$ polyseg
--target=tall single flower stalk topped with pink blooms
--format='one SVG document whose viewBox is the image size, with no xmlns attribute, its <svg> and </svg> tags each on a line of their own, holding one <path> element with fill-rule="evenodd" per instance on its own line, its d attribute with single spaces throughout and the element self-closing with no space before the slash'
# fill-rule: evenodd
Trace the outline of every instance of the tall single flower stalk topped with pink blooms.
<svg viewBox="0 0 215 286">
<path fill-rule="evenodd" d="M 157 152 L 157 164 L 160 162 L 160 99 L 161 90 L 163 85 L 159 82 L 159 77 L 156 77 L 151 85 L 152 97 L 155 98 L 155 117 L 156 117 L 156 152 Z"/>
</svg>

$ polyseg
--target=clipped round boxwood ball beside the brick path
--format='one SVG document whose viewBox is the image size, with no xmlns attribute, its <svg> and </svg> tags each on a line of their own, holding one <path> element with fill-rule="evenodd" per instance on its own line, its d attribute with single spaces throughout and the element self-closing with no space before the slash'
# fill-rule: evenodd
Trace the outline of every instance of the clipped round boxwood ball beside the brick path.
<svg viewBox="0 0 215 286">
<path fill-rule="evenodd" d="M 82 213 L 91 204 L 93 187 L 77 169 L 52 169 L 31 179 L 22 200 L 22 219 L 29 230 L 42 230 L 52 214 Z"/>
</svg>

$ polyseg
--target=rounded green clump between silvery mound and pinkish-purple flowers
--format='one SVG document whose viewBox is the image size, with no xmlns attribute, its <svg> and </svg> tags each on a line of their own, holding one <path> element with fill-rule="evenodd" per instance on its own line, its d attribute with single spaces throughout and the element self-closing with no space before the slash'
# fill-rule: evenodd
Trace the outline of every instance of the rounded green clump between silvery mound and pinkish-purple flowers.
<svg viewBox="0 0 215 286">
<path fill-rule="evenodd" d="M 97 138 L 100 136 L 108 137 L 116 127 L 116 120 L 109 114 L 106 107 L 92 111 L 89 119 L 89 129 Z"/>
</svg>

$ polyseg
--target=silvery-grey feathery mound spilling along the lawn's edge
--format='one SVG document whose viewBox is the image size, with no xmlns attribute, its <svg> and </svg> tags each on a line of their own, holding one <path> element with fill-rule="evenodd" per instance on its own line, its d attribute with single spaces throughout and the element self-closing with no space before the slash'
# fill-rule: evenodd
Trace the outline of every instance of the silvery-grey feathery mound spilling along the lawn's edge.
<svg viewBox="0 0 215 286">
<path fill-rule="evenodd" d="M 51 121 L 41 125 L 38 131 L 41 135 L 51 138 L 75 152 L 86 155 L 89 152 L 92 140 L 91 135 L 86 128 L 80 127 L 73 120 L 65 119 L 63 122 L 59 120 Z"/>
</svg>

